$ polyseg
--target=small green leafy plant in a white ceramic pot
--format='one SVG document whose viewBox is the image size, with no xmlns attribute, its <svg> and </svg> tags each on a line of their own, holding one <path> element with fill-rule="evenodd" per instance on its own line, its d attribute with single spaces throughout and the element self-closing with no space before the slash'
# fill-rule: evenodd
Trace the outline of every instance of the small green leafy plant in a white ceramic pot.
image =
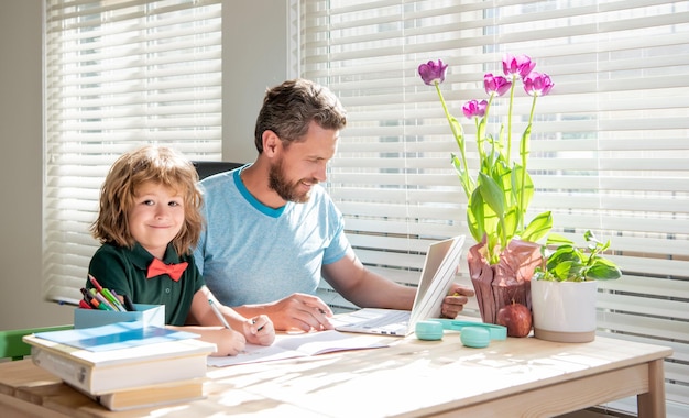
<svg viewBox="0 0 689 418">
<path fill-rule="evenodd" d="M 588 342 L 595 338 L 598 280 L 616 279 L 622 273 L 603 256 L 610 240 L 603 243 L 591 231 L 583 238 L 586 248 L 554 233 L 542 249 L 543 262 L 531 282 L 534 337 L 538 339 Z"/>
</svg>

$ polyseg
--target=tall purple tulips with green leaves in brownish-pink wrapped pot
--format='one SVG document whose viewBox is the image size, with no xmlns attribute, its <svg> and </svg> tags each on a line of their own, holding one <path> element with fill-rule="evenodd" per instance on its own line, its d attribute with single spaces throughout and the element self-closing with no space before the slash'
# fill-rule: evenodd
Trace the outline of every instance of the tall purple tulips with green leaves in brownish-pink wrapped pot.
<svg viewBox="0 0 689 418">
<path fill-rule="evenodd" d="M 462 112 L 475 123 L 475 146 L 479 156 L 475 176 L 467 158 L 467 138 L 459 121 L 450 113 L 440 90 L 447 65 L 440 59 L 418 67 L 426 85 L 435 86 L 449 122 L 459 154 L 451 163 L 467 196 L 467 223 L 477 244 L 468 253 L 469 272 L 484 322 L 496 323 L 496 316 L 506 305 L 518 302 L 531 309 L 529 280 L 540 264 L 540 245 L 553 227 L 549 211 L 526 222 L 526 211 L 534 194 L 527 172 L 529 139 L 536 100 L 547 95 L 554 84 L 546 74 L 534 70 L 536 63 L 526 55 L 505 54 L 504 76 L 488 73 L 483 86 L 488 100 L 470 100 Z M 533 97 L 528 124 L 518 142 L 518 158 L 512 161 L 512 108 L 515 86 L 521 80 L 524 91 Z M 501 123 L 497 135 L 488 133 L 493 100 L 510 92 L 507 127 Z"/>
</svg>

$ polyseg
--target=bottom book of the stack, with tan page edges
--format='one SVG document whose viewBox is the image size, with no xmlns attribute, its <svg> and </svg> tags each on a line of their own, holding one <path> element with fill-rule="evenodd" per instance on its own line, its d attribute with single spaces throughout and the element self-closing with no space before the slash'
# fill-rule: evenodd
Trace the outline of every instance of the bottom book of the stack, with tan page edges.
<svg viewBox="0 0 689 418">
<path fill-rule="evenodd" d="M 89 395 L 91 399 L 110 410 L 149 408 L 204 399 L 206 378 L 192 378 L 151 386 L 117 391 L 103 395 Z"/>
</svg>

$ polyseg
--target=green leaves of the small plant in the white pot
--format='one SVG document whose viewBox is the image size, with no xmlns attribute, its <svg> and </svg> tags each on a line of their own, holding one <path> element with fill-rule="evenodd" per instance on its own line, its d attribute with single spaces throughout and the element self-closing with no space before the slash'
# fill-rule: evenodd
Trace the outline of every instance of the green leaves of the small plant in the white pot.
<svg viewBox="0 0 689 418">
<path fill-rule="evenodd" d="M 543 264 L 536 267 L 533 279 L 553 282 L 610 280 L 620 278 L 620 268 L 603 256 L 610 240 L 599 241 L 591 231 L 583 234 L 587 248 L 551 233 L 542 246 Z M 555 246 L 555 251 L 548 250 Z"/>
</svg>

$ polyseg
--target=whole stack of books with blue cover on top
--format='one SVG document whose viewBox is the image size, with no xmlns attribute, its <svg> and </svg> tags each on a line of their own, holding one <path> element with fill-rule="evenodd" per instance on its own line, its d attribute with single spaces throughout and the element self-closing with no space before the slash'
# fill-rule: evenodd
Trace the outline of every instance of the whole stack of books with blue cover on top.
<svg viewBox="0 0 689 418">
<path fill-rule="evenodd" d="M 37 366 L 111 410 L 204 397 L 216 345 L 190 332 L 141 322 L 25 336 Z"/>
</svg>

